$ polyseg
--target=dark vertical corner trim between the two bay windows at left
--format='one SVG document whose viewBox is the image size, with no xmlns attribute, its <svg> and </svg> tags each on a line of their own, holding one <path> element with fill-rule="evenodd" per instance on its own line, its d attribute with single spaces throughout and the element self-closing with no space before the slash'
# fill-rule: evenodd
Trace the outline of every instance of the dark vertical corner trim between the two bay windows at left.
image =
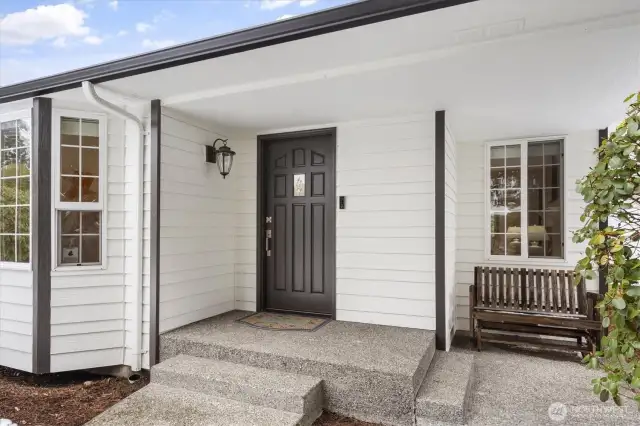
<svg viewBox="0 0 640 426">
<path fill-rule="evenodd" d="M 34 98 L 31 137 L 32 372 L 51 371 L 51 128 L 50 98 Z"/>
</svg>

